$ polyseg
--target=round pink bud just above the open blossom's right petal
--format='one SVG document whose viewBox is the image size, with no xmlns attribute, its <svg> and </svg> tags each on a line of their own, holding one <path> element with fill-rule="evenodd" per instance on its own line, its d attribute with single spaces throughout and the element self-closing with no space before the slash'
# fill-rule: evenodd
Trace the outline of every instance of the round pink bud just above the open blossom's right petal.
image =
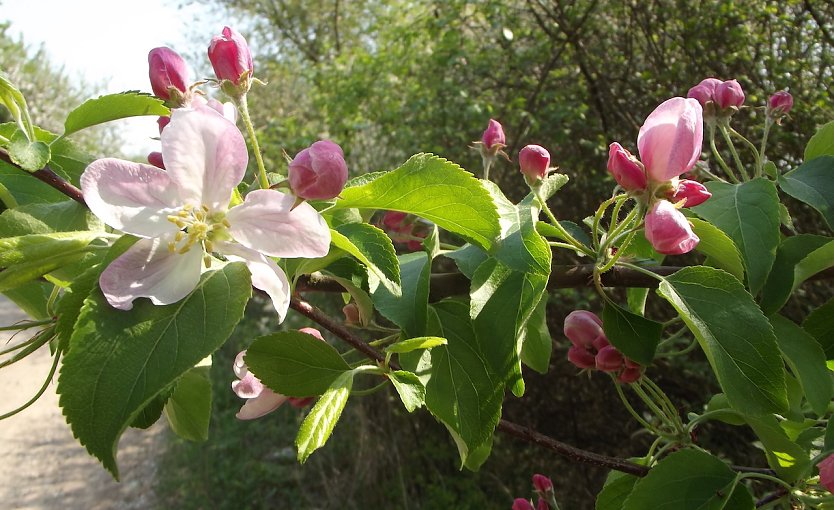
<svg viewBox="0 0 834 510">
<path fill-rule="evenodd" d="M 347 176 L 342 148 L 330 140 L 319 140 L 302 150 L 289 167 L 290 188 L 307 200 L 336 197 L 345 187 Z"/>
</svg>

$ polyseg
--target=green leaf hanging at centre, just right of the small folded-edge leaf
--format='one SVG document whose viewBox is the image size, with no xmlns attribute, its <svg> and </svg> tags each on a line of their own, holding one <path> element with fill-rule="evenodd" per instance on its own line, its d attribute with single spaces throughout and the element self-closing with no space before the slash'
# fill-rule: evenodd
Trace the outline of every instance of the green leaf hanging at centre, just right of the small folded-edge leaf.
<svg viewBox="0 0 834 510">
<path fill-rule="evenodd" d="M 396 296 L 380 286 L 371 295 L 383 317 L 401 327 L 408 337 L 426 332 L 426 307 L 429 303 L 431 264 L 426 252 L 399 256 L 402 295 Z"/>
</svg>

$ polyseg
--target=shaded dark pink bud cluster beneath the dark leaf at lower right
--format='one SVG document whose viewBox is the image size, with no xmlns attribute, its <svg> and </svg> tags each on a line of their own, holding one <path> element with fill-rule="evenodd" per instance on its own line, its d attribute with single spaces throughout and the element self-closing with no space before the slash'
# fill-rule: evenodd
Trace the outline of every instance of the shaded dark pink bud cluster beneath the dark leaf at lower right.
<svg viewBox="0 0 834 510">
<path fill-rule="evenodd" d="M 574 310 L 565 318 L 565 336 L 571 341 L 568 361 L 581 369 L 616 373 L 622 383 L 633 383 L 642 367 L 611 345 L 602 330 L 602 321 L 587 310 Z"/>
</svg>

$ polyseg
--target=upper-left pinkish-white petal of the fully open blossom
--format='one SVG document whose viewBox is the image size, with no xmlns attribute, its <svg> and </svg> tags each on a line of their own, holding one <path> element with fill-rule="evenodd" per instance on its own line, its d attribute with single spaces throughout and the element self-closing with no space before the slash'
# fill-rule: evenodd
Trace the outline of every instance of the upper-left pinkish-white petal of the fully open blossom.
<svg viewBox="0 0 834 510">
<path fill-rule="evenodd" d="M 167 217 L 180 205 L 177 187 L 164 170 L 105 158 L 81 174 L 90 210 L 105 223 L 139 237 L 159 237 L 177 227 Z"/>
</svg>

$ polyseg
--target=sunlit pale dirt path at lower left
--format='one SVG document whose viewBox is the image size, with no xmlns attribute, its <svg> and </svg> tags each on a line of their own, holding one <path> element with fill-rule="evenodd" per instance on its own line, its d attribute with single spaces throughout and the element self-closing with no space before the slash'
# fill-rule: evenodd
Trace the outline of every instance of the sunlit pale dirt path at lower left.
<svg viewBox="0 0 834 510">
<path fill-rule="evenodd" d="M 0 295 L 0 326 L 25 318 Z M 10 335 L 0 332 L 0 345 Z M 19 335 L 20 340 L 29 338 Z M 8 344 L 11 345 L 11 344 Z M 0 370 L 0 414 L 34 395 L 49 374 L 44 347 Z M 115 482 L 72 437 L 58 408 L 57 376 L 47 392 L 20 414 L 0 421 L 0 507 L 26 510 L 150 509 L 154 505 L 156 459 L 164 448 L 165 425 L 129 429 L 119 445 L 122 482 Z"/>
</svg>

